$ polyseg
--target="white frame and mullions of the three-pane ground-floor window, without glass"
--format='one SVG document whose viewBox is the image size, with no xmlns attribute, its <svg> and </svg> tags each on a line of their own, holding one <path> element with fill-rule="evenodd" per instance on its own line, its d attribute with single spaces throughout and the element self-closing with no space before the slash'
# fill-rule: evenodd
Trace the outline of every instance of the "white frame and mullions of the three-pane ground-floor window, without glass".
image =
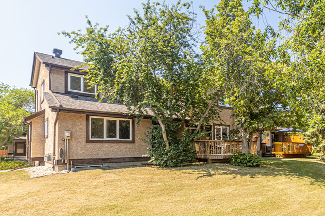
<svg viewBox="0 0 325 216">
<path fill-rule="evenodd" d="M 104 128 L 103 128 L 103 135 L 104 138 L 91 138 L 91 118 L 96 118 L 96 119 L 103 119 L 104 121 Z M 106 120 L 116 120 L 116 138 L 106 138 Z M 119 120 L 122 121 L 129 121 L 130 122 L 130 137 L 129 139 L 119 139 Z M 100 117 L 100 116 L 89 116 L 89 139 L 90 140 L 125 140 L 125 141 L 130 141 L 132 140 L 132 119 L 123 119 L 123 118 L 110 118 L 110 117 Z"/>
</svg>

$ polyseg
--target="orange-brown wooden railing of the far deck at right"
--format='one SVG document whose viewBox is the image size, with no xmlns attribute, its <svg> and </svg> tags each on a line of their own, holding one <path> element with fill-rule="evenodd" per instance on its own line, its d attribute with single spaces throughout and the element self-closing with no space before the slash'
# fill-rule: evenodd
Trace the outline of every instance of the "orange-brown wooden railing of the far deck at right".
<svg viewBox="0 0 325 216">
<path fill-rule="evenodd" d="M 274 143 L 274 154 L 311 154 L 311 145 L 293 142 Z"/>
</svg>

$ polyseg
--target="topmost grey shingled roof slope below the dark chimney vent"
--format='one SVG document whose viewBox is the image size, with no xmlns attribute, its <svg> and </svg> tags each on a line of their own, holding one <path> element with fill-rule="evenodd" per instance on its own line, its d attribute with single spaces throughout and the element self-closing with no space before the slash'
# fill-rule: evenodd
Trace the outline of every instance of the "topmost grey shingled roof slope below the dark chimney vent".
<svg viewBox="0 0 325 216">
<path fill-rule="evenodd" d="M 81 61 L 74 61 L 71 59 L 66 59 L 66 58 L 58 58 L 55 57 L 53 55 L 47 55 L 44 53 L 40 53 L 40 52 L 34 52 L 36 57 L 43 63 L 48 63 L 51 65 L 57 65 L 57 66 L 63 66 L 66 68 L 75 68 L 76 66 L 80 66 L 81 64 L 84 64 L 84 62 Z M 86 70 L 88 68 L 88 66 L 83 65 L 82 67 L 80 67 L 79 69 L 82 70 Z"/>
</svg>

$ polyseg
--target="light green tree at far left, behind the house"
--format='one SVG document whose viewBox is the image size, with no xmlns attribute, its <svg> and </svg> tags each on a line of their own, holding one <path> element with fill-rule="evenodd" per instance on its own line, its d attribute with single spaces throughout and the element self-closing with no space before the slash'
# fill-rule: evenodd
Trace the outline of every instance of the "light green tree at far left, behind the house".
<svg viewBox="0 0 325 216">
<path fill-rule="evenodd" d="M 24 88 L 0 84 L 0 148 L 12 136 L 22 134 L 21 120 L 31 114 L 34 107 L 34 94 Z"/>
</svg>

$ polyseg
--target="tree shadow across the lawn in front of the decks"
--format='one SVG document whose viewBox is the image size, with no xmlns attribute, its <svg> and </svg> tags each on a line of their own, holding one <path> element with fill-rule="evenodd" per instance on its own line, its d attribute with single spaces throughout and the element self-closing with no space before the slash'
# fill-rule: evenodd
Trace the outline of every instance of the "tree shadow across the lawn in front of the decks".
<svg viewBox="0 0 325 216">
<path fill-rule="evenodd" d="M 186 174 L 198 175 L 196 179 L 217 175 L 237 177 L 277 177 L 306 180 L 306 184 L 325 186 L 325 163 L 317 162 L 315 158 L 263 158 L 263 165 L 255 168 L 237 167 L 225 163 L 197 164 L 180 168 L 160 168 L 170 171 L 181 171 Z"/>
</svg>

